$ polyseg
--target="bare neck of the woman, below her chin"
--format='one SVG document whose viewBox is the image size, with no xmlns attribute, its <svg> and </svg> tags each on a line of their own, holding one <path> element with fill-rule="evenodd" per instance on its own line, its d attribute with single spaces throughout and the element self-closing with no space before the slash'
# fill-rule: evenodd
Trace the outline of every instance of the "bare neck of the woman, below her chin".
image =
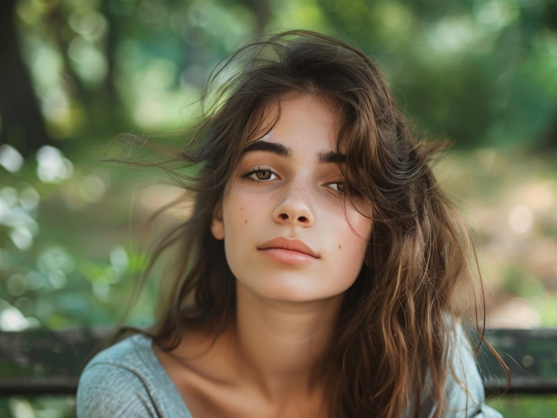
<svg viewBox="0 0 557 418">
<path fill-rule="evenodd" d="M 342 295 L 304 303 L 265 300 L 237 283 L 230 330 L 237 372 L 269 400 L 312 392 L 341 303 Z"/>
</svg>

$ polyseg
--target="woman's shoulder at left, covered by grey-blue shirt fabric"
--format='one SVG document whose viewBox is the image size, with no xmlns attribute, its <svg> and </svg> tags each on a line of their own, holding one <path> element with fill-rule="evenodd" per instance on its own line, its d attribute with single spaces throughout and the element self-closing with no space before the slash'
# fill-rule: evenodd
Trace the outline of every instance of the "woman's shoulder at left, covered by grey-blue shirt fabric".
<svg viewBox="0 0 557 418">
<path fill-rule="evenodd" d="M 81 374 L 78 417 L 189 417 L 173 382 L 152 351 L 152 340 L 134 335 L 103 350 Z"/>
</svg>

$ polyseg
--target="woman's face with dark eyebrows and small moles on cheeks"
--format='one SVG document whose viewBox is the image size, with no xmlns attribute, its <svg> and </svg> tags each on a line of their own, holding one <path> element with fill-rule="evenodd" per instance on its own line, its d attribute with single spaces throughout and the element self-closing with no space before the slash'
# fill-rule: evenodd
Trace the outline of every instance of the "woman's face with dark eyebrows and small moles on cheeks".
<svg viewBox="0 0 557 418">
<path fill-rule="evenodd" d="M 372 222 L 343 205 L 337 117 L 325 103 L 285 95 L 278 123 L 246 146 L 215 210 L 212 232 L 224 240 L 230 270 L 263 298 L 336 297 L 361 270 Z M 277 111 L 269 106 L 262 132 Z"/>
</svg>

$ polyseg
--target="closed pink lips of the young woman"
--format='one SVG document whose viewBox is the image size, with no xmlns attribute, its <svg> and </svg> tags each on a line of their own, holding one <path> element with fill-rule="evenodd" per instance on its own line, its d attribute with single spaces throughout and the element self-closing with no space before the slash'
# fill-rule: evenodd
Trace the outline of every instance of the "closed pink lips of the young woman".
<svg viewBox="0 0 557 418">
<path fill-rule="evenodd" d="M 264 242 L 258 250 L 274 261 L 285 264 L 304 264 L 320 258 L 320 255 L 306 242 L 278 237 Z"/>
</svg>

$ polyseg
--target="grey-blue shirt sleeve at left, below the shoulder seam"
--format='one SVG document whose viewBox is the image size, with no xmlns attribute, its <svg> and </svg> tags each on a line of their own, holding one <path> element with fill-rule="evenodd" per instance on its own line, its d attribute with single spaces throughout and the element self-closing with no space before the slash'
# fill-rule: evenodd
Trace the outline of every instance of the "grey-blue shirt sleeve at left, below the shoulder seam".
<svg viewBox="0 0 557 418">
<path fill-rule="evenodd" d="M 79 380 L 77 418 L 159 417 L 143 381 L 123 366 L 97 363 Z"/>
</svg>

